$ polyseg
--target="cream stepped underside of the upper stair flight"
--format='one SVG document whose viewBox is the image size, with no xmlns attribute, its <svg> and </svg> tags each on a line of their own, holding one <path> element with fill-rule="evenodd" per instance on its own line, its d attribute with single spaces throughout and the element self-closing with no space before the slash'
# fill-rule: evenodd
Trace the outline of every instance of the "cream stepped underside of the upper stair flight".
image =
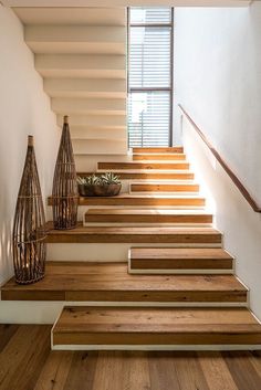
<svg viewBox="0 0 261 390">
<path fill-rule="evenodd" d="M 76 165 L 92 169 L 96 155 L 126 156 L 126 8 L 13 10 L 58 126 L 70 116 Z"/>
</svg>

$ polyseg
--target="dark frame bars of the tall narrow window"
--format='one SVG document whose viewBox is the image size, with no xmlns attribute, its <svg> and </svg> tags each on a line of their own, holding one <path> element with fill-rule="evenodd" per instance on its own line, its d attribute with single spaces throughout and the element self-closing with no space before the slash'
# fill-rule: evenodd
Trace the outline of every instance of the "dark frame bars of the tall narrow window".
<svg viewBox="0 0 261 390">
<path fill-rule="evenodd" d="M 146 8 L 146 7 L 144 7 Z M 150 8 L 150 7 L 148 7 Z M 156 7 L 155 7 L 156 8 Z M 160 7 L 157 7 L 160 8 Z M 164 8 L 164 7 L 163 7 Z M 130 23 L 130 9 L 127 7 L 127 98 L 132 92 L 169 92 L 169 134 L 168 134 L 168 146 L 173 146 L 174 135 L 174 7 L 170 7 L 170 22 L 169 23 Z M 130 29 L 132 28 L 170 28 L 170 85 L 169 87 L 130 87 L 129 86 L 129 42 L 130 42 Z M 127 126 L 128 127 L 128 126 Z M 129 146 L 129 135 L 128 135 Z"/>
</svg>

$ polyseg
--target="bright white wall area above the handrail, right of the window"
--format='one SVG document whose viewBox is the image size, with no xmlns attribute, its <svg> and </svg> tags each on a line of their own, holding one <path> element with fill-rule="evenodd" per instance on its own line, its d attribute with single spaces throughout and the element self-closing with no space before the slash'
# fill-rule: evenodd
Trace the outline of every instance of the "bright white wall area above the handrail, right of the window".
<svg viewBox="0 0 261 390">
<path fill-rule="evenodd" d="M 175 17 L 176 103 L 261 204 L 261 2 L 177 9 Z"/>
</svg>

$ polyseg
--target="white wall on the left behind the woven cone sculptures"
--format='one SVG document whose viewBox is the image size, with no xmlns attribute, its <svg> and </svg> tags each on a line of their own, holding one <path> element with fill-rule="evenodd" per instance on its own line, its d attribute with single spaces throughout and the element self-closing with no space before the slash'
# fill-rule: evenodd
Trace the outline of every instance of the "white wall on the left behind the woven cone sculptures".
<svg viewBox="0 0 261 390">
<path fill-rule="evenodd" d="M 12 274 L 11 230 L 29 134 L 34 136 L 45 198 L 52 187 L 60 138 L 56 117 L 34 70 L 33 54 L 23 41 L 21 22 L 0 6 L 0 284 Z"/>
</svg>

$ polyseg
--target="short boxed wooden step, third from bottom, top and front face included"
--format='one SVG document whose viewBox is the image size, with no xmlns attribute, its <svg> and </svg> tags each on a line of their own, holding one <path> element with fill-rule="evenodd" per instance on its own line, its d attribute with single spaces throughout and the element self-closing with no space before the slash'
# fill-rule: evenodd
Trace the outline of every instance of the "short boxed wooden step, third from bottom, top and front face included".
<svg viewBox="0 0 261 390">
<path fill-rule="evenodd" d="M 129 273 L 233 273 L 234 259 L 222 249 L 130 247 Z"/>
</svg>

